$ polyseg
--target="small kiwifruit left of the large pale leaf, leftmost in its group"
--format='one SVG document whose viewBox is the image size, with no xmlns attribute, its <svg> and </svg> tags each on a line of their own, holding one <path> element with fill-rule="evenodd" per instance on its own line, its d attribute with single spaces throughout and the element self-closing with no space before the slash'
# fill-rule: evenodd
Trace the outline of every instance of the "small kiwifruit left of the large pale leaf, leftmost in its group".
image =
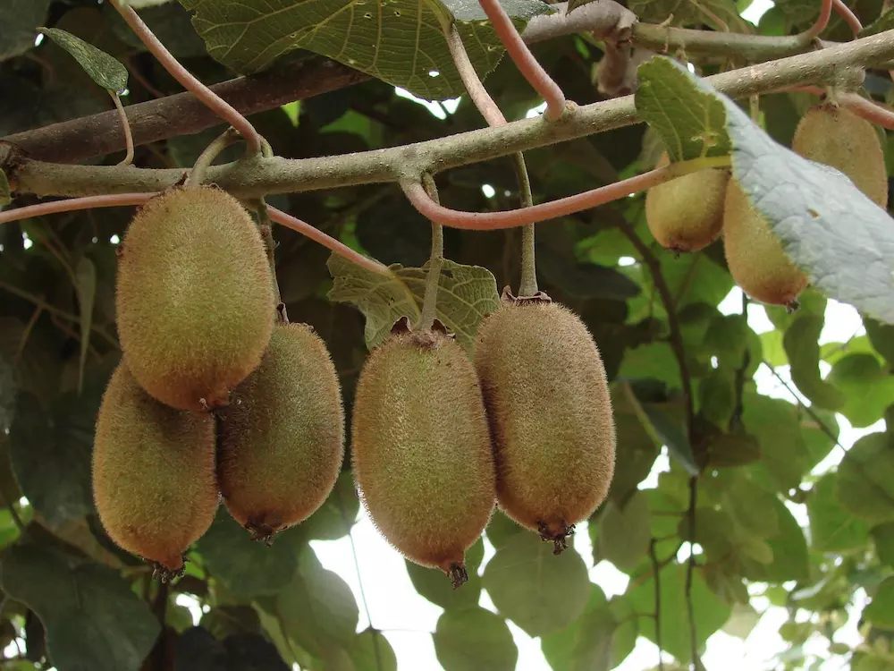
<svg viewBox="0 0 894 671">
<path fill-rule="evenodd" d="M 670 163 L 667 152 L 656 167 Z M 714 242 L 723 226 L 723 194 L 730 173 L 721 168 L 684 174 L 645 194 L 645 222 L 655 240 L 671 251 L 698 251 Z"/>
</svg>

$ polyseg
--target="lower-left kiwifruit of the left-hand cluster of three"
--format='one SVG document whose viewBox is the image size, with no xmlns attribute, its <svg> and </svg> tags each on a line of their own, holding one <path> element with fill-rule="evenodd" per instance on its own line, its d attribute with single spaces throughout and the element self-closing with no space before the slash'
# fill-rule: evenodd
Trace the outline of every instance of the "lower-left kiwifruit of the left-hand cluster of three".
<svg viewBox="0 0 894 671">
<path fill-rule="evenodd" d="M 109 538 L 163 578 L 181 573 L 219 503 L 214 418 L 159 403 L 120 363 L 99 407 L 92 471 Z"/>
</svg>

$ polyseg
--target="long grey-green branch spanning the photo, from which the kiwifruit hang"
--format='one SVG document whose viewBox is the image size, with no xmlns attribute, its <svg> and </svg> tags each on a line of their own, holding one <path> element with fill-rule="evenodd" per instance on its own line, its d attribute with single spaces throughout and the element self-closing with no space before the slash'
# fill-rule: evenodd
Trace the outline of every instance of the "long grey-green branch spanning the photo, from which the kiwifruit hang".
<svg viewBox="0 0 894 671">
<path fill-rule="evenodd" d="M 740 98 L 805 84 L 834 84 L 855 69 L 884 64 L 891 58 L 894 58 L 894 30 L 886 30 L 836 47 L 722 72 L 705 81 L 732 98 Z M 867 114 L 864 104 L 857 106 L 850 99 L 845 104 L 854 105 L 858 114 Z M 557 122 L 523 119 L 437 140 L 345 156 L 291 160 L 256 157 L 213 166 L 208 171 L 208 179 L 247 199 L 356 184 L 412 182 L 426 172 L 434 174 L 505 157 L 620 128 L 638 120 L 633 96 L 625 96 L 569 109 Z M 41 196 L 161 191 L 180 180 L 184 172 L 122 166 L 64 166 L 14 158 L 5 166 L 13 189 Z"/>
</svg>

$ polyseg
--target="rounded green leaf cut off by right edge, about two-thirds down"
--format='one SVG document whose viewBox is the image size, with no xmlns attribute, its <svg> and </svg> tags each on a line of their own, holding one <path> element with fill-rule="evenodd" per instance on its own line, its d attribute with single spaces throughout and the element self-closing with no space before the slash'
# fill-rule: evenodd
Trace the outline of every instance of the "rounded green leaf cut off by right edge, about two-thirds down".
<svg viewBox="0 0 894 671">
<path fill-rule="evenodd" d="M 867 522 L 894 522 L 894 449 L 885 433 L 854 443 L 838 468 L 838 497 L 850 513 Z"/>
</svg>

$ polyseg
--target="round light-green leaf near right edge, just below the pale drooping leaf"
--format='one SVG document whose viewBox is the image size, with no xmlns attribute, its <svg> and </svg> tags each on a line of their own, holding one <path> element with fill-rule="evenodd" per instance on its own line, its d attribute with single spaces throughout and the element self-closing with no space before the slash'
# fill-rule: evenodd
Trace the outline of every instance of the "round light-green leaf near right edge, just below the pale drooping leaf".
<svg viewBox="0 0 894 671">
<path fill-rule="evenodd" d="M 845 393 L 839 412 L 858 429 L 881 420 L 885 409 L 894 403 L 894 376 L 881 368 L 873 354 L 848 354 L 826 379 Z"/>
</svg>

